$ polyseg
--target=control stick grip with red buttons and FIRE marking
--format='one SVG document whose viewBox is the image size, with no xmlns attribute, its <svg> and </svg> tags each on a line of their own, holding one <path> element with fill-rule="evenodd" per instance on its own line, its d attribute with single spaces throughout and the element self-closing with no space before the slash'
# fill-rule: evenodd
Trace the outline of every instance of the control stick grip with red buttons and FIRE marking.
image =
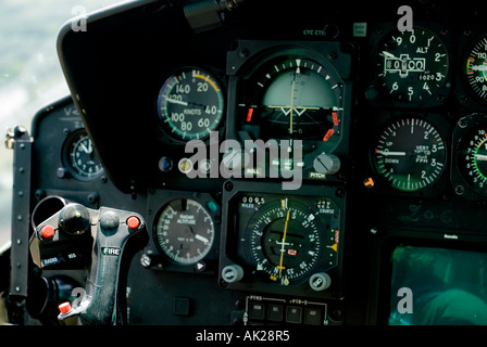
<svg viewBox="0 0 487 347">
<path fill-rule="evenodd" d="M 122 257 L 128 239 L 145 227 L 142 217 L 132 211 L 108 207 L 95 210 L 68 204 L 36 228 L 30 239 L 30 253 L 34 262 L 41 268 L 70 264 L 71 258 L 80 256 L 78 241 L 86 240 L 89 233 L 92 240 L 91 259 L 86 259 L 90 264 L 85 294 L 73 307 L 62 306 L 60 321 L 78 317 L 83 325 L 123 322 L 118 319 L 123 316 L 120 303 L 124 300 L 121 297 L 124 291 L 121 288 L 127 271 L 122 267 Z"/>
</svg>

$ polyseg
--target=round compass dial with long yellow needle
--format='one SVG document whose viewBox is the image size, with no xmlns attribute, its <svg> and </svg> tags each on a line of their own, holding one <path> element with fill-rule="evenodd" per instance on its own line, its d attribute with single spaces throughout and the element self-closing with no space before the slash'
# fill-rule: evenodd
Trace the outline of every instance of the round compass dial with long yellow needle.
<svg viewBox="0 0 487 347">
<path fill-rule="evenodd" d="M 324 254 L 322 223 L 307 206 L 287 198 L 264 205 L 246 232 L 257 270 L 274 283 L 303 281 Z"/>
</svg>

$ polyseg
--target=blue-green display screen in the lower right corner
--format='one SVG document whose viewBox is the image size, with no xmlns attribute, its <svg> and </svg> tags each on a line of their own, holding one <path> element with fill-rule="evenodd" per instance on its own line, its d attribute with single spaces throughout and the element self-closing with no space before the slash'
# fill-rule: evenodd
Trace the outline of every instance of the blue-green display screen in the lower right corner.
<svg viewBox="0 0 487 347">
<path fill-rule="evenodd" d="M 487 254 L 404 246 L 391 256 L 389 324 L 487 324 Z"/>
</svg>

